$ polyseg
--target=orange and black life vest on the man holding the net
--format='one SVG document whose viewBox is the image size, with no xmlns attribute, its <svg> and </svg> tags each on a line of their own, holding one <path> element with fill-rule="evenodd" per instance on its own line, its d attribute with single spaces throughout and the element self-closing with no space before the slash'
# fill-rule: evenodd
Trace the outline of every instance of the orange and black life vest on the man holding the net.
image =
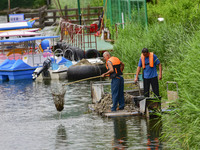
<svg viewBox="0 0 200 150">
<path fill-rule="evenodd" d="M 121 62 L 120 62 L 119 58 L 110 57 L 108 59 L 108 61 L 110 61 L 112 63 L 112 66 L 113 66 L 113 69 L 114 69 L 114 72 L 112 72 L 110 74 L 110 78 L 111 79 L 123 74 L 122 71 L 121 71 L 121 68 L 120 68 L 121 67 Z M 106 68 L 108 69 L 107 62 L 106 62 Z"/>
</svg>

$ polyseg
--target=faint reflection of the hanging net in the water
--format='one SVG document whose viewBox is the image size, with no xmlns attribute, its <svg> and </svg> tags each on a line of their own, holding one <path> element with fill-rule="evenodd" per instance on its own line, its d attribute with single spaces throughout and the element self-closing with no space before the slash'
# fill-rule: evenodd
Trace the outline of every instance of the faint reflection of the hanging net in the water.
<svg viewBox="0 0 200 150">
<path fill-rule="evenodd" d="M 67 144 L 67 133 L 65 130 L 65 126 L 60 124 L 57 127 L 57 133 L 56 133 L 56 139 L 55 139 L 55 149 L 62 149 L 63 147 L 66 147 Z"/>
</svg>

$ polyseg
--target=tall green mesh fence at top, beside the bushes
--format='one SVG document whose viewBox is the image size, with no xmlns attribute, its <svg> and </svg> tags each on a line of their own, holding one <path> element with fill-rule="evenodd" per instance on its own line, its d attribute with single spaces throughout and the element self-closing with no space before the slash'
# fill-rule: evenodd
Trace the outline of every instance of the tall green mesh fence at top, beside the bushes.
<svg viewBox="0 0 200 150">
<path fill-rule="evenodd" d="M 111 25 L 131 21 L 147 26 L 146 0 L 104 0 L 104 6 Z"/>
</svg>

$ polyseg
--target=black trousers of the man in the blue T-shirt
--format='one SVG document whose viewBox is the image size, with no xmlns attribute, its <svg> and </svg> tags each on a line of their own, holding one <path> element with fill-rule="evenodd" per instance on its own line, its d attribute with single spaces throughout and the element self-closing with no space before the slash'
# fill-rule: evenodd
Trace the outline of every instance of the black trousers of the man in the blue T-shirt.
<svg viewBox="0 0 200 150">
<path fill-rule="evenodd" d="M 158 85 L 158 77 L 151 79 L 143 79 L 144 83 L 144 96 L 149 97 L 150 84 L 153 89 L 154 96 L 159 96 L 159 85 Z"/>
</svg>

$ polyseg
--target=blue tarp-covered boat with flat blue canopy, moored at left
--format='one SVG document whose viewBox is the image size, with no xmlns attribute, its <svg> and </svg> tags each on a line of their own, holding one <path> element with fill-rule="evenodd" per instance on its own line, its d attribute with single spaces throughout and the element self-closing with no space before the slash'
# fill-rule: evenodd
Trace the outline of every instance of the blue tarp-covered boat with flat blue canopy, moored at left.
<svg viewBox="0 0 200 150">
<path fill-rule="evenodd" d="M 47 59 L 47 57 L 43 55 L 44 45 L 36 48 L 36 40 L 58 37 L 59 36 L 37 36 L 1 40 L 1 53 L 7 53 L 10 56 L 10 52 L 12 52 L 12 58 L 4 60 L 3 63 L 0 64 L 0 80 L 32 79 L 34 70 L 41 67 L 43 62 Z M 5 48 L 8 47 L 7 43 L 13 43 L 13 45 L 20 46 L 20 48 L 24 46 L 26 49 L 23 47 L 21 49 L 22 52 L 19 52 L 20 48 L 14 46 L 14 50 L 17 49 L 18 51 L 12 51 L 13 48 L 10 48 L 8 51 L 8 49 Z"/>
</svg>

